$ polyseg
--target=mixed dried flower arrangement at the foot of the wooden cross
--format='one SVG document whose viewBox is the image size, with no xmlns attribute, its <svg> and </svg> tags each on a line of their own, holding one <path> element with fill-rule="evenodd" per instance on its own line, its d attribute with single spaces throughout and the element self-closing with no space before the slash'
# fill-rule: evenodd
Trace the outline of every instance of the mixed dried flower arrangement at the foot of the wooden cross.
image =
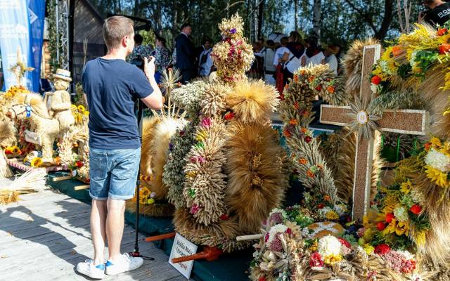
<svg viewBox="0 0 450 281">
<path fill-rule="evenodd" d="M 264 224 L 254 245 L 251 280 L 406 281 L 427 276 L 413 254 L 387 244 L 361 246 L 349 235 L 309 239 L 290 212 L 274 209 Z"/>
</svg>

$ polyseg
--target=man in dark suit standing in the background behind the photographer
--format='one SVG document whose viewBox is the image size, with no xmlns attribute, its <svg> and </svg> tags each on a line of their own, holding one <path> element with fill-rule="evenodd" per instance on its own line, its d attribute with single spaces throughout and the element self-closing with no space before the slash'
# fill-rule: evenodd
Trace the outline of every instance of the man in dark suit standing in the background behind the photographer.
<svg viewBox="0 0 450 281">
<path fill-rule="evenodd" d="M 189 39 L 192 28 L 189 23 L 181 26 L 181 33 L 175 39 L 176 48 L 176 68 L 183 76 L 181 81 L 186 84 L 195 77 L 195 49 Z"/>
</svg>

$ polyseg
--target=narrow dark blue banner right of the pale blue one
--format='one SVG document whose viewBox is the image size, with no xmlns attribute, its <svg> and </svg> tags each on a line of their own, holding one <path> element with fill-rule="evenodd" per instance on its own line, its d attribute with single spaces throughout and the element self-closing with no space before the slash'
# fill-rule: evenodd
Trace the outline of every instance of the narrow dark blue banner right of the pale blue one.
<svg viewBox="0 0 450 281">
<path fill-rule="evenodd" d="M 41 79 L 42 44 L 44 42 L 45 0 L 28 0 L 30 20 L 30 67 L 32 71 L 32 91 L 39 92 Z"/>
</svg>

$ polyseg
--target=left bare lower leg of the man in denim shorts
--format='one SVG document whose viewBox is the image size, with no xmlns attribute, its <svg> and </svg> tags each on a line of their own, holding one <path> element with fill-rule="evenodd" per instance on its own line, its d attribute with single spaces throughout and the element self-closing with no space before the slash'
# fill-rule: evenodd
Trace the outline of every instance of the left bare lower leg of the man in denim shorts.
<svg viewBox="0 0 450 281">
<path fill-rule="evenodd" d="M 94 243 L 94 264 L 101 264 L 105 261 L 105 223 L 108 211 L 106 200 L 92 200 L 91 209 L 91 233 Z"/>
</svg>

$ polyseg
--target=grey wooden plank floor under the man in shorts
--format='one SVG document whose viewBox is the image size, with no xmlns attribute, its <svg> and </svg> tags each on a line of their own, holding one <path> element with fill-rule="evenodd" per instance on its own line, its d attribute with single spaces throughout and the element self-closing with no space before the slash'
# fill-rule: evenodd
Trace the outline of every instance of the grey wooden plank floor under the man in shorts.
<svg viewBox="0 0 450 281">
<path fill-rule="evenodd" d="M 0 280 L 89 280 L 75 265 L 92 257 L 90 206 L 54 190 L 21 198 L 0 207 Z M 134 235 L 134 228 L 125 226 L 122 251 L 132 251 Z M 186 280 L 162 250 L 139 238 L 141 253 L 155 261 L 104 280 Z"/>
</svg>

